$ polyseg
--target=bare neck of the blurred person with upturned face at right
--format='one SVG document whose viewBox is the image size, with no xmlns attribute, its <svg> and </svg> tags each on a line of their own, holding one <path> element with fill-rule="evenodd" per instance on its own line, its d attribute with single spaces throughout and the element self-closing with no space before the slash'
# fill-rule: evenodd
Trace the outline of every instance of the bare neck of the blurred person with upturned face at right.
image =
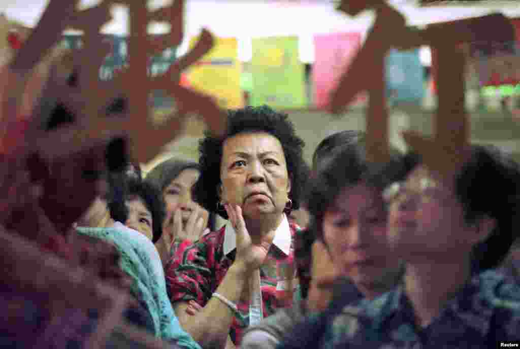
<svg viewBox="0 0 520 349">
<path fill-rule="evenodd" d="M 430 325 L 471 277 L 471 261 L 407 264 L 405 292 L 417 323 Z"/>
</svg>

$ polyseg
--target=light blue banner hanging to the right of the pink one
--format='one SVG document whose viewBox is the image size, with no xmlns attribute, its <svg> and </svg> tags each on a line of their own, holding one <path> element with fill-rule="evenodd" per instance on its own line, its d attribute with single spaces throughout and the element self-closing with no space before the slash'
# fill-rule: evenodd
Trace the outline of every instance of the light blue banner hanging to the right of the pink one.
<svg viewBox="0 0 520 349">
<path fill-rule="evenodd" d="M 421 102 L 424 97 L 424 69 L 419 49 L 392 49 L 386 56 L 386 93 L 391 102 Z"/>
</svg>

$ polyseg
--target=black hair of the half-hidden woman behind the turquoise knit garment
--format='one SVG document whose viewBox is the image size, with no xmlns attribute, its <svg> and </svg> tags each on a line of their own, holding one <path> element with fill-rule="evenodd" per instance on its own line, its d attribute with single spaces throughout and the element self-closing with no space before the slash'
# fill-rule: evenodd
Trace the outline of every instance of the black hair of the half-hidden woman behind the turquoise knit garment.
<svg viewBox="0 0 520 349">
<path fill-rule="evenodd" d="M 116 182 L 111 186 L 111 195 L 108 200 L 110 217 L 124 223 L 128 218 L 126 201 L 139 197 L 152 214 L 153 237 L 156 243 L 162 235 L 162 223 L 165 216 L 165 204 L 162 195 L 151 183 L 128 176 L 127 173 L 112 174 L 109 182 Z"/>
</svg>

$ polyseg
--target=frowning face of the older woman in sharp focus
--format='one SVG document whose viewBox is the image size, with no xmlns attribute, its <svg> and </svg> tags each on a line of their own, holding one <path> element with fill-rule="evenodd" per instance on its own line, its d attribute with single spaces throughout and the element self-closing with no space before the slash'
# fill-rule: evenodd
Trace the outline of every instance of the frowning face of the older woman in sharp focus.
<svg viewBox="0 0 520 349">
<path fill-rule="evenodd" d="M 265 132 L 239 133 L 224 142 L 220 180 L 221 202 L 239 205 L 246 218 L 281 214 L 289 200 L 282 145 Z"/>
</svg>

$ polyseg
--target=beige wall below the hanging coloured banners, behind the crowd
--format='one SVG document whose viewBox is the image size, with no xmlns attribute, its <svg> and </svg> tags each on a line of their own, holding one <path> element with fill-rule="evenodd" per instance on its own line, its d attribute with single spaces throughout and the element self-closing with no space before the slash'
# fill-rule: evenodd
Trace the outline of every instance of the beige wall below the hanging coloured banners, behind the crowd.
<svg viewBox="0 0 520 349">
<path fill-rule="evenodd" d="M 306 143 L 305 159 L 310 163 L 311 156 L 318 143 L 333 132 L 341 130 L 364 130 L 365 115 L 361 109 L 334 116 L 319 111 L 287 111 L 294 123 L 296 131 Z M 390 111 L 389 135 L 391 143 L 405 151 L 406 145 L 400 132 L 412 129 L 430 135 L 434 111 L 425 111 L 413 106 L 404 106 Z M 167 144 L 168 156 L 181 158 L 198 158 L 198 141 L 202 137 L 204 125 L 199 120 L 190 120 L 187 124 L 187 135 Z M 491 143 L 499 146 L 520 160 L 520 123 L 512 120 L 504 113 L 471 114 L 471 139 L 475 143 Z M 155 160 L 157 163 L 157 160 Z"/>
</svg>

